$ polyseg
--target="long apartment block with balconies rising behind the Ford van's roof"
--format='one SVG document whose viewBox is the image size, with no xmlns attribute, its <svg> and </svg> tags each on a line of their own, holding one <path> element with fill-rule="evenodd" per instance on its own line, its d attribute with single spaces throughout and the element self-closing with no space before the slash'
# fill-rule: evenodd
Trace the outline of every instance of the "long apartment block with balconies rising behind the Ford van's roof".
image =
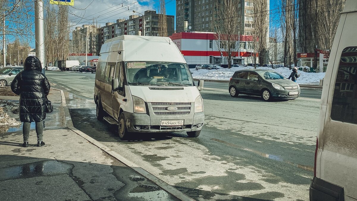
<svg viewBox="0 0 357 201">
<path fill-rule="evenodd" d="M 154 10 L 144 12 L 146 24 L 146 36 L 159 36 L 159 14 Z M 141 35 L 144 34 L 143 16 L 130 15 L 129 19 L 118 19 L 115 23 L 106 23 L 105 26 L 98 29 L 98 52 L 104 41 L 120 35 Z M 167 35 L 170 36 L 175 30 L 175 16 L 166 15 Z"/>
</svg>

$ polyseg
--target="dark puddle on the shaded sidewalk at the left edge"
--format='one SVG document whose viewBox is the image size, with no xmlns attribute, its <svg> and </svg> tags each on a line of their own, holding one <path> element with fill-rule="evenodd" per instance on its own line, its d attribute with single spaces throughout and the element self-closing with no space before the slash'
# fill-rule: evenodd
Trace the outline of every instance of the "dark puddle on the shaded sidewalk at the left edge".
<svg viewBox="0 0 357 201">
<path fill-rule="evenodd" d="M 0 168 L 0 181 L 55 176 L 67 173 L 71 165 L 56 160 L 38 161 Z"/>
</svg>

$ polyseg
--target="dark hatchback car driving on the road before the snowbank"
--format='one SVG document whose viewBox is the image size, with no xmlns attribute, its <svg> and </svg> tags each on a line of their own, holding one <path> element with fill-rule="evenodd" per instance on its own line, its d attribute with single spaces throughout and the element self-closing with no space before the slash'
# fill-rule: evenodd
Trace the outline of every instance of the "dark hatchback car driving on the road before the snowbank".
<svg viewBox="0 0 357 201">
<path fill-rule="evenodd" d="M 265 101 L 296 99 L 300 96 L 300 86 L 273 70 L 238 70 L 229 82 L 229 93 L 232 97 L 257 95 Z"/>
</svg>

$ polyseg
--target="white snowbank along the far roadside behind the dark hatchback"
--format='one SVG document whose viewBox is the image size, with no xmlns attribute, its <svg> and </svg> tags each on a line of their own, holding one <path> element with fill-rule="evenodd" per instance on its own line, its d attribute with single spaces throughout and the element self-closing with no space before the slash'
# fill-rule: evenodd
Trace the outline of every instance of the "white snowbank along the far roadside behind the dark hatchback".
<svg viewBox="0 0 357 201">
<path fill-rule="evenodd" d="M 276 68 L 272 69 L 269 67 L 257 67 L 258 69 L 268 69 L 274 70 L 286 78 L 289 77 L 291 74 L 291 70 L 289 68 Z M 195 79 L 208 79 L 208 80 L 229 80 L 233 73 L 237 70 L 242 69 L 253 69 L 251 66 L 247 67 L 233 67 L 233 68 L 222 68 L 218 70 L 206 70 L 206 69 L 199 69 L 196 70 L 194 68 L 190 69 L 192 72 L 192 77 Z M 301 74 L 300 77 L 297 79 L 297 83 L 306 84 L 306 83 L 320 83 L 320 79 L 325 77 L 325 73 L 307 73 L 301 70 L 298 70 L 298 73 Z"/>
</svg>

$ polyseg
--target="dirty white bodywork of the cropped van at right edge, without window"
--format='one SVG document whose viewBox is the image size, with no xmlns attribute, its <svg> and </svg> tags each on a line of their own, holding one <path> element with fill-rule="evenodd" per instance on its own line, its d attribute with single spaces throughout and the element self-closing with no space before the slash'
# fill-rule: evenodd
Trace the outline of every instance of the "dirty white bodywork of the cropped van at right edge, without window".
<svg viewBox="0 0 357 201">
<path fill-rule="evenodd" d="M 332 45 L 330 62 L 323 82 L 317 134 L 318 149 L 315 159 L 316 177 L 342 187 L 344 200 L 355 201 L 357 200 L 357 124 L 335 121 L 331 118 L 331 111 L 334 93 L 343 93 L 341 81 L 336 83 L 342 52 L 345 48 L 357 46 L 356 10 L 357 1 L 347 0 Z M 356 87 L 354 84 L 353 91 Z M 339 112 L 344 114 L 342 109 L 341 105 Z M 311 188 L 312 186 L 313 184 Z M 314 193 L 311 188 L 310 200 L 314 200 L 311 197 Z"/>
</svg>

